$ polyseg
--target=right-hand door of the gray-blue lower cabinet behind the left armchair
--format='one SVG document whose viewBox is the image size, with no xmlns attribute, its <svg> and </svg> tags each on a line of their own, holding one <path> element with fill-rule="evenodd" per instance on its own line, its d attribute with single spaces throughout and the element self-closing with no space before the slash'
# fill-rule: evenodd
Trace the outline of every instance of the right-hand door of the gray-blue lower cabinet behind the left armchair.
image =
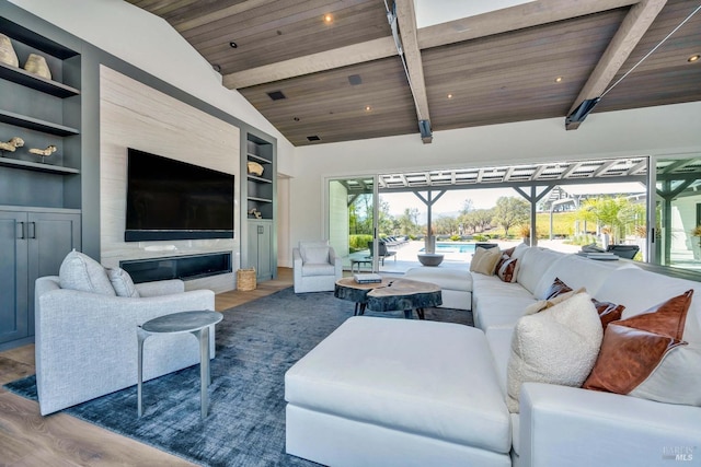
<svg viewBox="0 0 701 467">
<path fill-rule="evenodd" d="M 80 214 L 32 212 L 27 223 L 30 335 L 34 334 L 34 281 L 58 276 L 66 255 L 80 250 Z"/>
</svg>

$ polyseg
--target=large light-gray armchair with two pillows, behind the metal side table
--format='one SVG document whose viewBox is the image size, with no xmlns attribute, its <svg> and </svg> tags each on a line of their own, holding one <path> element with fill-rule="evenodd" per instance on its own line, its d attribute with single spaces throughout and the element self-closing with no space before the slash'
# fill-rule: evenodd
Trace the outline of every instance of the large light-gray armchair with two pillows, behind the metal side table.
<svg viewBox="0 0 701 467">
<path fill-rule="evenodd" d="M 78 252 L 68 254 L 59 276 L 38 278 L 35 294 L 42 415 L 135 385 L 137 326 L 162 315 L 215 306 L 210 290 L 186 292 L 177 279 L 134 284 L 124 270 L 105 269 Z M 214 338 L 212 326 L 212 358 Z M 153 336 L 143 347 L 145 381 L 197 363 L 199 343 L 188 332 Z"/>
</svg>

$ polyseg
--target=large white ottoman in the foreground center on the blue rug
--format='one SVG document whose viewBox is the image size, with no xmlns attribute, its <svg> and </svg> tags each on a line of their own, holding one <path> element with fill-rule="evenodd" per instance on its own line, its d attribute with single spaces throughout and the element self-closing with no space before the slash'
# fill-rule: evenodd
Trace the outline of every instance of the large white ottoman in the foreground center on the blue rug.
<svg viewBox="0 0 701 467">
<path fill-rule="evenodd" d="M 510 466 L 484 334 L 357 316 L 285 375 L 286 448 L 331 466 Z"/>
</svg>

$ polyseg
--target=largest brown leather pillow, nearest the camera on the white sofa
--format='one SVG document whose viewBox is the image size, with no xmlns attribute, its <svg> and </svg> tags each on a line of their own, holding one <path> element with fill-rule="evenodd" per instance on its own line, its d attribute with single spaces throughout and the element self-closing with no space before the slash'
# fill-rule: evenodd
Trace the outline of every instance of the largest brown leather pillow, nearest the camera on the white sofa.
<svg viewBox="0 0 701 467">
<path fill-rule="evenodd" d="M 585 389 L 629 394 L 658 367 L 681 340 L 693 290 L 669 299 L 646 313 L 606 327 L 599 357 Z"/>
</svg>

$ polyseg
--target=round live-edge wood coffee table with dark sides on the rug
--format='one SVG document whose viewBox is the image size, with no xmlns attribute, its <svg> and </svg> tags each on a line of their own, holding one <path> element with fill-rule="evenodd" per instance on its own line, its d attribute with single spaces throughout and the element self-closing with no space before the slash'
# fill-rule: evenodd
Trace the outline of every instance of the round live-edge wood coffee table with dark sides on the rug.
<svg viewBox="0 0 701 467">
<path fill-rule="evenodd" d="M 412 318 L 416 310 L 420 319 L 424 319 L 424 308 L 443 304 L 440 288 L 435 283 L 410 279 L 388 279 L 376 283 L 357 283 L 353 278 L 336 281 L 334 296 L 355 302 L 355 315 L 365 314 L 369 308 L 375 312 L 404 311 L 404 317 Z"/>
</svg>

